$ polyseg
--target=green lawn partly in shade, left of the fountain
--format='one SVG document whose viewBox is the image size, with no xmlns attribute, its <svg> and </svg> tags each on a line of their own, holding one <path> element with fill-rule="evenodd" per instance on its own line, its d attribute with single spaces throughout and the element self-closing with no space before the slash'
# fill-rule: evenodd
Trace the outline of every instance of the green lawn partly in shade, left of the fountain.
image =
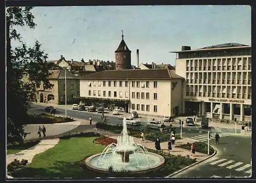
<svg viewBox="0 0 256 183">
<path fill-rule="evenodd" d="M 95 137 L 76 137 L 60 140 L 53 148 L 35 155 L 32 164 L 12 173 L 14 177 L 72 177 L 95 178 L 97 173 L 82 169 L 79 162 L 82 159 L 100 153 L 104 146 L 93 143 Z"/>
</svg>

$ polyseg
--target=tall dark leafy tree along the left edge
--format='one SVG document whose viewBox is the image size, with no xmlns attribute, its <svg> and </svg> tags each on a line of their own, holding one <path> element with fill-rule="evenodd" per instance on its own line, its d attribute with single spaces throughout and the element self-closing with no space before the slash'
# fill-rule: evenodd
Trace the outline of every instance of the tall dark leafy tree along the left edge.
<svg viewBox="0 0 256 183">
<path fill-rule="evenodd" d="M 26 42 L 15 28 L 29 27 L 34 29 L 33 7 L 9 7 L 6 11 L 7 28 L 7 141 L 23 141 L 24 125 L 26 124 L 28 98 L 35 94 L 36 88 L 43 83 L 44 88 L 52 87 L 47 79 L 50 76 L 46 59 L 48 54 L 41 50 L 41 44 L 36 40 L 33 47 Z M 11 41 L 19 45 L 11 47 Z M 23 77 L 28 76 L 28 81 Z"/>
</svg>

